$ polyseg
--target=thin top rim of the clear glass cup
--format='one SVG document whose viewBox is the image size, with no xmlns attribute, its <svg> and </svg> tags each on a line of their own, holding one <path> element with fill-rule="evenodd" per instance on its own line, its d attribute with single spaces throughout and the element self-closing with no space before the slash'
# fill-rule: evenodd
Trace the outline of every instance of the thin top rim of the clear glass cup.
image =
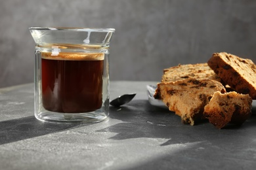
<svg viewBox="0 0 256 170">
<path fill-rule="evenodd" d="M 49 31 L 81 31 L 81 32 L 114 32 L 114 28 L 89 28 L 89 27 L 30 27 L 30 30 L 49 30 Z"/>
</svg>

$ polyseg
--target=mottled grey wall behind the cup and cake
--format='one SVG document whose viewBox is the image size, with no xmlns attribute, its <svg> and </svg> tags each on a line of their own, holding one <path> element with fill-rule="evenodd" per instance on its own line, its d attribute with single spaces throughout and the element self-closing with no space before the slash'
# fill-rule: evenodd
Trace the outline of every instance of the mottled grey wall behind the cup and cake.
<svg viewBox="0 0 256 170">
<path fill-rule="evenodd" d="M 0 3 L 0 87 L 33 82 L 28 27 L 114 27 L 110 80 L 156 80 L 229 52 L 256 63 L 256 1 L 8 0 Z"/>
</svg>

